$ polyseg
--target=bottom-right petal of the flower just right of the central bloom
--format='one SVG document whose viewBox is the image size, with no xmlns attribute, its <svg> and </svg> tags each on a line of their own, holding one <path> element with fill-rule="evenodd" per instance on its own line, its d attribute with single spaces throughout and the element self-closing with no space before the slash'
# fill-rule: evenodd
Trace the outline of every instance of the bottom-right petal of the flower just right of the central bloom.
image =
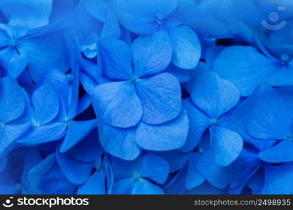
<svg viewBox="0 0 293 210">
<path fill-rule="evenodd" d="M 210 127 L 210 139 L 210 151 L 219 165 L 230 165 L 241 153 L 243 140 L 236 132 L 213 126 Z"/>
</svg>

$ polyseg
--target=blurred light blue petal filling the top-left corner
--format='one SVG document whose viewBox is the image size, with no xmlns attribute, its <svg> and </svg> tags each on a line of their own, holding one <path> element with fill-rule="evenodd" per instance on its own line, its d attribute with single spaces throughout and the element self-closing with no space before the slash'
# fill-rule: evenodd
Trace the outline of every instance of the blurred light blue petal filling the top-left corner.
<svg viewBox="0 0 293 210">
<path fill-rule="evenodd" d="M 10 18 L 9 25 L 29 29 L 48 24 L 52 2 L 52 0 L 3 0 L 0 8 Z"/>
</svg>

